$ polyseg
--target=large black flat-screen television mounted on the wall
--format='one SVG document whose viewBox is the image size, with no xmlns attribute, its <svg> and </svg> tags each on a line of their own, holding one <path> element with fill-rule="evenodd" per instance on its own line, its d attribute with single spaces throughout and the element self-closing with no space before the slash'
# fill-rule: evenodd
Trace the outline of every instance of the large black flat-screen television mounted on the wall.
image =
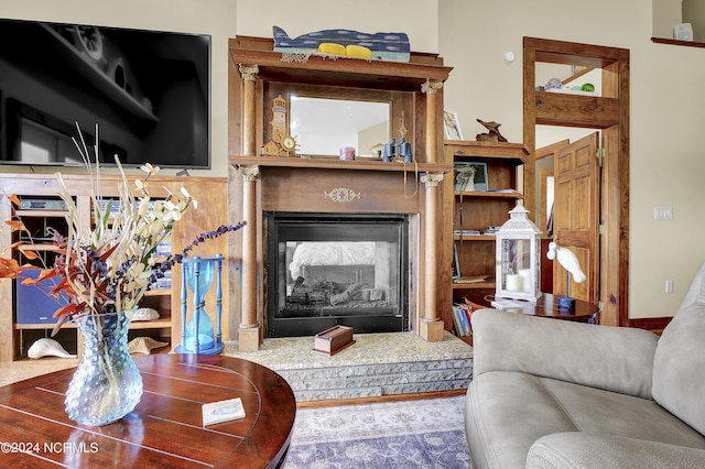
<svg viewBox="0 0 705 469">
<path fill-rule="evenodd" d="M 210 168 L 210 41 L 0 19 L 0 164 Z"/>
</svg>

